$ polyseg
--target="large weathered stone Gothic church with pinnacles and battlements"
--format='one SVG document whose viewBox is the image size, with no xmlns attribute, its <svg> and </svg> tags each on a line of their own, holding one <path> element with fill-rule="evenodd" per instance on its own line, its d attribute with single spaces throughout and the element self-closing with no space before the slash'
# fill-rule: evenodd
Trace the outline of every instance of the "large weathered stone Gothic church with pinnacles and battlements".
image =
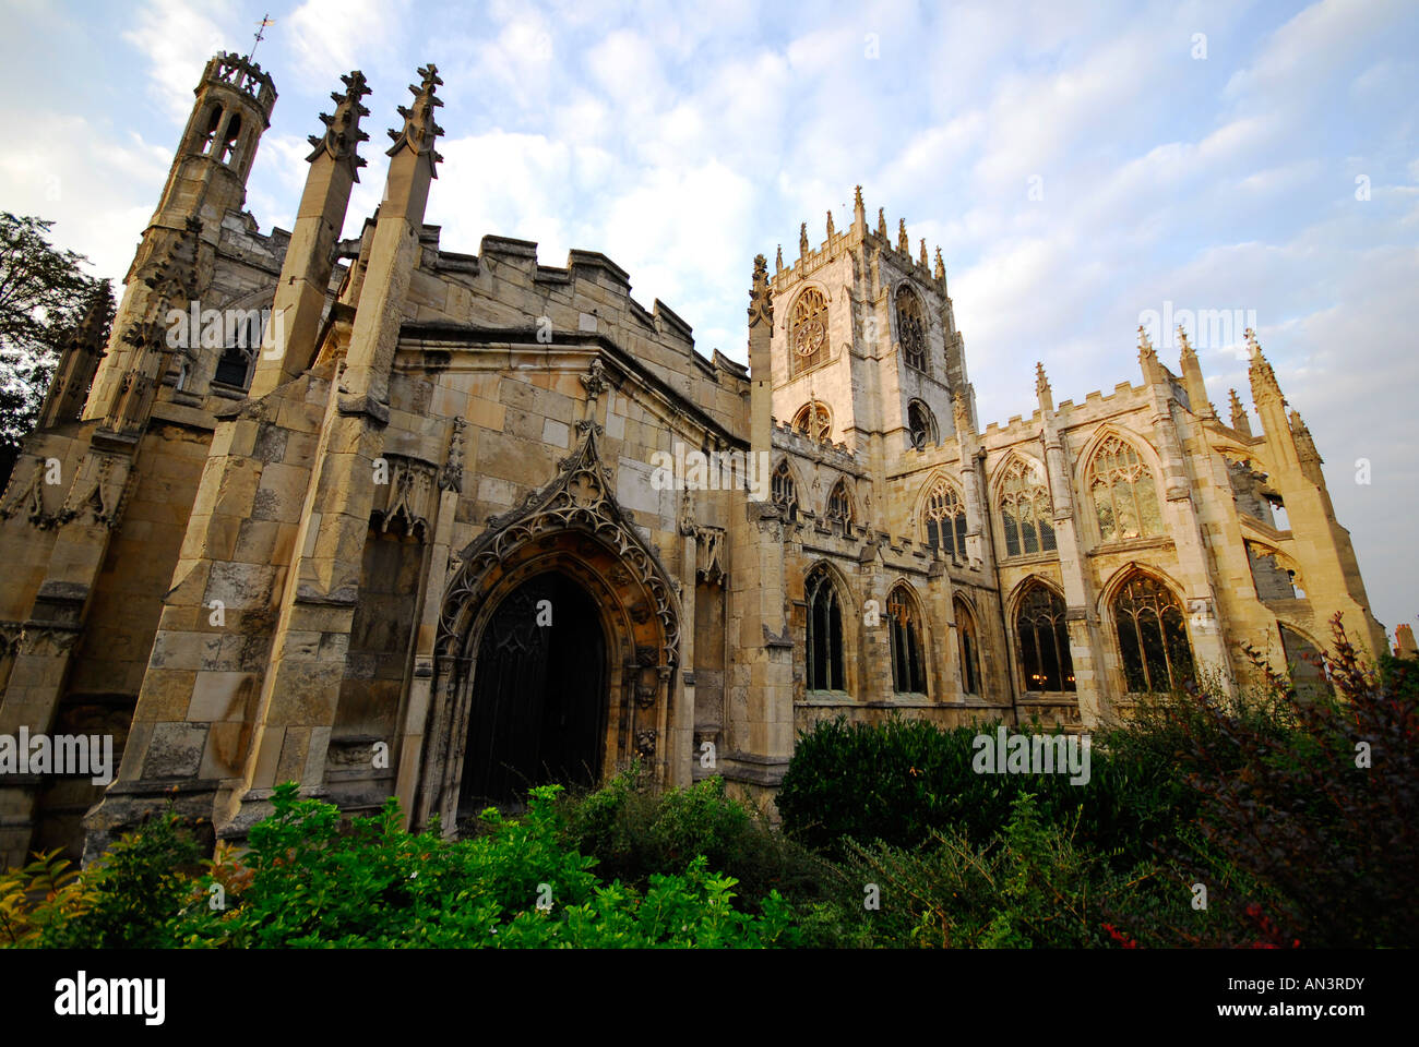
<svg viewBox="0 0 1419 1047">
<path fill-rule="evenodd" d="M 1208 401 L 1186 332 L 1174 372 L 1142 329 L 1137 382 L 1056 403 L 1037 369 L 1033 411 L 982 427 L 941 251 L 858 192 L 745 265 L 748 367 L 707 356 L 603 254 L 446 250 L 419 78 L 339 240 L 362 74 L 263 234 L 275 87 L 207 64 L 116 312 L 75 331 L 0 499 L 0 736 L 121 753 L 106 785 L 0 775 L 7 864 L 92 858 L 169 803 L 240 840 L 288 780 L 448 831 L 636 758 L 769 797 L 822 718 L 1088 731 L 1237 687 L 1246 646 L 1304 674 L 1335 613 L 1385 650 L 1250 332 L 1259 428 Z"/>
</svg>

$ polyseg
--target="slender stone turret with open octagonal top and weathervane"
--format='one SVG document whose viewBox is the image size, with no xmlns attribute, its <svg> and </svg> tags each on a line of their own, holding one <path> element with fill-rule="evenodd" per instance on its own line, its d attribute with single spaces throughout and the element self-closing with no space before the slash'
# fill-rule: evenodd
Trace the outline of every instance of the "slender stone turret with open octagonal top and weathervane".
<svg viewBox="0 0 1419 1047">
<path fill-rule="evenodd" d="M 169 366 L 182 376 L 179 386 L 192 389 L 189 372 L 210 379 L 220 352 L 209 346 L 213 359 L 200 360 L 203 339 L 194 329 L 200 325 L 175 332 L 167 314 L 190 312 L 211 284 L 221 220 L 245 204 L 247 176 L 271 125 L 275 85 L 260 65 L 221 52 L 207 62 L 194 94 L 158 210 L 123 279 L 108 353 L 84 409 L 85 420 L 99 420 L 114 433 L 136 433 L 146 421 Z"/>
</svg>

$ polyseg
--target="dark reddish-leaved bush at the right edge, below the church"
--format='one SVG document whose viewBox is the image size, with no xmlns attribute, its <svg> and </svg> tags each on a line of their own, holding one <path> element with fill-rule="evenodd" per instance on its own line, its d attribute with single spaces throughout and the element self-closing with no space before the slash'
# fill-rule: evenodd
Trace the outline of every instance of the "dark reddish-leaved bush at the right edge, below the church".
<svg viewBox="0 0 1419 1047">
<path fill-rule="evenodd" d="M 1335 697 L 1298 698 L 1259 658 L 1276 715 L 1203 695 L 1166 711 L 1208 844 L 1281 901 L 1220 901 L 1307 946 L 1419 943 L 1419 694 L 1361 664 L 1340 616 L 1321 661 Z M 1362 753 L 1368 753 L 1366 756 Z M 1266 915 L 1270 912 L 1270 915 Z"/>
</svg>

